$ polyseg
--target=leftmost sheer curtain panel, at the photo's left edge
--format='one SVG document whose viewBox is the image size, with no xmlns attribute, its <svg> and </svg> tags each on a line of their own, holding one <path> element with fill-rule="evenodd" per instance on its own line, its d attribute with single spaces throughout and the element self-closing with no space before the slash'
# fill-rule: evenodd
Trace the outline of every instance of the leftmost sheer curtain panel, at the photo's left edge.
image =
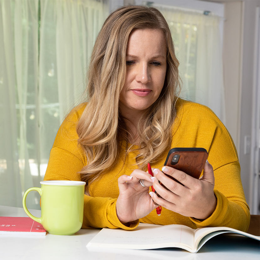
<svg viewBox="0 0 260 260">
<path fill-rule="evenodd" d="M 0 4 L 0 204 L 21 206 L 22 191 L 33 185 L 26 106 L 31 103 L 28 87 L 37 86 L 38 3 L 1 0 Z M 33 198 L 28 200 L 31 205 Z"/>
</svg>

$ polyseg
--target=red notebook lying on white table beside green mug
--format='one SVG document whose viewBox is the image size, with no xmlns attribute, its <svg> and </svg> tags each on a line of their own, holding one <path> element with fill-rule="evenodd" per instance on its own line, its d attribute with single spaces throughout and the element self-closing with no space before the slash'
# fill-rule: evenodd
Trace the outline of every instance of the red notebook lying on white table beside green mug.
<svg viewBox="0 0 260 260">
<path fill-rule="evenodd" d="M 46 230 L 29 217 L 0 217 L 0 234 L 46 235 Z"/>
</svg>

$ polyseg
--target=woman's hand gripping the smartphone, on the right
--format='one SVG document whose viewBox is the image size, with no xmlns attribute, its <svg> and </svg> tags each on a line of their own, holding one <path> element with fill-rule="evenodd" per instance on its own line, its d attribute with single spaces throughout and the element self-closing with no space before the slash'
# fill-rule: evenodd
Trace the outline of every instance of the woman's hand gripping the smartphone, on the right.
<svg viewBox="0 0 260 260">
<path fill-rule="evenodd" d="M 205 163 L 203 176 L 200 179 L 195 179 L 169 166 L 164 166 L 162 170 L 184 186 L 167 177 L 159 169 L 153 169 L 155 177 L 153 187 L 162 197 L 151 192 L 150 195 L 154 202 L 183 216 L 200 220 L 208 218 L 213 213 L 217 200 L 213 191 L 215 179 L 211 164 Z M 160 185 L 158 180 L 169 190 Z"/>
</svg>

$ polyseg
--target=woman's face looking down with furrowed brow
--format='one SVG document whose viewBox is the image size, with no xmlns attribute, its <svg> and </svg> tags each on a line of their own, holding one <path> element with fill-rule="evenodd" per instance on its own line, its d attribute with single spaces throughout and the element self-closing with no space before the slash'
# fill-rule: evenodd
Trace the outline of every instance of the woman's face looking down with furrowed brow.
<svg viewBox="0 0 260 260">
<path fill-rule="evenodd" d="M 120 93 L 123 116 L 150 107 L 159 97 L 166 74 L 166 42 L 159 29 L 135 29 L 127 44 L 127 72 Z"/>
</svg>

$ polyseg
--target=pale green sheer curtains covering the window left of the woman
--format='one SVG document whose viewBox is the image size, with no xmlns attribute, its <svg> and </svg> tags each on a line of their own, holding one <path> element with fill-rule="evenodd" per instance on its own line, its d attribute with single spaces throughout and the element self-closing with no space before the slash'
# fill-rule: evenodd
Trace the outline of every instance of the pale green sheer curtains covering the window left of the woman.
<svg viewBox="0 0 260 260">
<path fill-rule="evenodd" d="M 0 205 L 22 206 L 40 185 L 107 15 L 96 0 L 0 0 Z M 39 195 L 27 205 L 39 208 Z"/>
</svg>

